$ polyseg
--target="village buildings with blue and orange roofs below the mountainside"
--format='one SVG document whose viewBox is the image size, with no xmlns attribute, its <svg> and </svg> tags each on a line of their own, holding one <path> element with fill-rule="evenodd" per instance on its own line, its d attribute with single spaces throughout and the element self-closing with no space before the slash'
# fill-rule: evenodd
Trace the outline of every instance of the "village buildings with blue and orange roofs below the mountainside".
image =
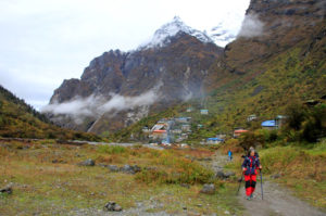
<svg viewBox="0 0 326 216">
<path fill-rule="evenodd" d="M 196 112 L 195 109 L 188 107 L 186 113 Z M 199 110 L 200 115 L 209 115 L 209 110 Z M 263 120 L 261 127 L 267 130 L 279 129 L 284 125 L 286 116 L 277 115 L 274 119 Z M 202 129 L 204 126 L 201 124 L 193 125 L 192 118 L 187 116 L 162 118 L 156 122 L 152 127 L 143 127 L 142 132 L 148 138 L 150 144 L 170 147 L 173 144 L 179 147 L 188 147 L 185 142 L 189 136 L 193 132 L 191 127 Z M 247 122 L 259 120 L 258 116 L 252 114 L 247 117 Z M 227 134 L 218 134 L 215 137 L 208 137 L 203 139 L 200 144 L 221 144 L 225 142 L 227 138 L 239 138 L 242 134 L 250 131 L 249 129 L 237 127 L 233 131 Z"/>
</svg>

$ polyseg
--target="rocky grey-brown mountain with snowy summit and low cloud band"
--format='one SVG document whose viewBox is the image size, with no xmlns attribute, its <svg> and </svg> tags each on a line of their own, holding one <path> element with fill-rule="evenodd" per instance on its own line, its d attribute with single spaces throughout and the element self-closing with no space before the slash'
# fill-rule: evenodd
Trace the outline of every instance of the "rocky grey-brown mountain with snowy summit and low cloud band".
<svg viewBox="0 0 326 216">
<path fill-rule="evenodd" d="M 96 58 L 80 79 L 63 81 L 45 111 L 64 127 L 97 134 L 116 130 L 201 97 L 208 69 L 222 52 L 206 35 L 176 17 L 136 51 Z M 70 109 L 74 105 L 85 112 L 78 115 Z"/>
</svg>

